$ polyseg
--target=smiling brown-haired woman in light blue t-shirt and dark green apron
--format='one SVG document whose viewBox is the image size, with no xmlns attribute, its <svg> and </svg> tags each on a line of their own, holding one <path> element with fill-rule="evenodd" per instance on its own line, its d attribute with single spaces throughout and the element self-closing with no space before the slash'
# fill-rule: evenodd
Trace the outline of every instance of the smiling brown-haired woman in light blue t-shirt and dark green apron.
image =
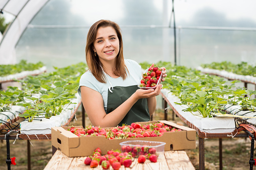
<svg viewBox="0 0 256 170">
<path fill-rule="evenodd" d="M 155 90 L 137 87 L 142 78 L 141 67 L 135 61 L 124 60 L 120 30 L 116 23 L 100 20 L 87 35 L 89 70 L 80 78 L 78 93 L 94 126 L 149 121 L 156 108 L 155 96 L 161 86 Z"/>
</svg>

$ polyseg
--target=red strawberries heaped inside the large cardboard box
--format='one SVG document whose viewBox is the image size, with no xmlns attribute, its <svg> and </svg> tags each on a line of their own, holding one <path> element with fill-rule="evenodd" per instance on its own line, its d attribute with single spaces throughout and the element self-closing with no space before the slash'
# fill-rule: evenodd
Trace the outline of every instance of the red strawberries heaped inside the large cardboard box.
<svg viewBox="0 0 256 170">
<path fill-rule="evenodd" d="M 101 128 L 98 126 L 88 126 L 85 129 L 71 126 L 68 131 L 77 136 L 105 136 L 107 139 L 124 139 L 124 138 L 139 138 L 139 137 L 155 137 L 162 136 L 164 132 L 181 131 L 173 126 L 165 125 L 162 122 L 149 123 L 141 125 L 132 123 L 131 125 L 123 125 L 112 128 Z"/>
</svg>

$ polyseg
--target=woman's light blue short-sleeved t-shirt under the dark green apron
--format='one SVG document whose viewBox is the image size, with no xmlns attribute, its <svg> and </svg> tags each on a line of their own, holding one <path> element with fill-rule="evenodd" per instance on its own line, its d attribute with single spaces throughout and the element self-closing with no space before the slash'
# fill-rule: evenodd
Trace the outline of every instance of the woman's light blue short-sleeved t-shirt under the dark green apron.
<svg viewBox="0 0 256 170">
<path fill-rule="evenodd" d="M 108 91 L 110 87 L 115 88 L 115 86 L 127 87 L 137 85 L 142 79 L 141 66 L 137 62 L 125 59 L 125 65 L 129 71 L 129 73 L 127 72 L 127 78 L 125 80 L 123 80 L 122 77 L 112 78 L 105 74 L 105 76 L 107 76 L 107 83 L 101 83 L 93 76 L 91 71 L 88 70 L 87 72 L 83 73 L 80 78 L 79 88 L 77 90 L 78 94 L 81 96 L 81 86 L 86 86 L 95 91 L 98 91 L 102 95 L 104 101 L 104 109 L 107 112 Z"/>
</svg>

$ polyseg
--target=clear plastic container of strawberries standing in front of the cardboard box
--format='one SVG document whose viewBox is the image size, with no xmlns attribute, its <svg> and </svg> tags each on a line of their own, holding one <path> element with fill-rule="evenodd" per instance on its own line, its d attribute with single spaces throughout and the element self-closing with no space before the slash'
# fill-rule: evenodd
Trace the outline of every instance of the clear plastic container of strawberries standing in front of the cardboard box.
<svg viewBox="0 0 256 170">
<path fill-rule="evenodd" d="M 157 158 L 164 157 L 165 142 L 146 141 L 146 140 L 128 140 L 119 143 L 122 152 L 131 152 L 133 157 L 138 157 L 148 153 L 157 155 Z"/>
</svg>

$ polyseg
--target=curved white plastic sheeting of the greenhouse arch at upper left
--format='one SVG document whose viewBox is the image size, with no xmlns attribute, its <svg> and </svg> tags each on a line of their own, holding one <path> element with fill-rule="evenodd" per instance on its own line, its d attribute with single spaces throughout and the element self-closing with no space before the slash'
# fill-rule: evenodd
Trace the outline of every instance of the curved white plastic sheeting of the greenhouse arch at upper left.
<svg viewBox="0 0 256 170">
<path fill-rule="evenodd" d="M 15 46 L 27 25 L 48 0 L 2 0 L 0 9 L 15 16 L 0 44 L 0 64 L 15 64 Z"/>
</svg>

